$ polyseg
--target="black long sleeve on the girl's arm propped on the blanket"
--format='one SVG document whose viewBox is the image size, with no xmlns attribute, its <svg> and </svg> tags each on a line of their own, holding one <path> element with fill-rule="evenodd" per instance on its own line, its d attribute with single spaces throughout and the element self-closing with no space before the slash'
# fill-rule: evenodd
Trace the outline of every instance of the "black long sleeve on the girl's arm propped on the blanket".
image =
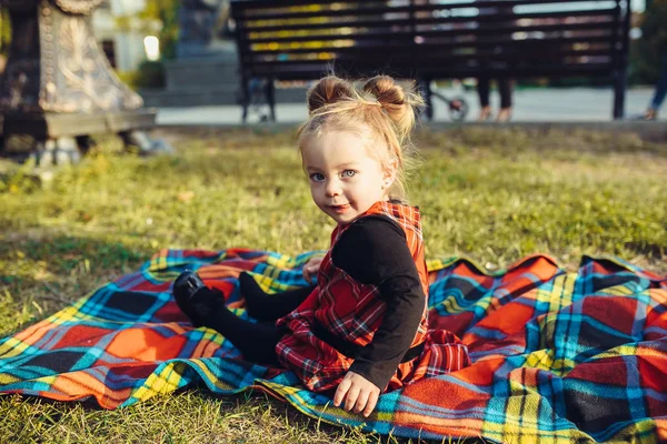
<svg viewBox="0 0 667 444">
<path fill-rule="evenodd" d="M 331 260 L 360 283 L 378 285 L 387 304 L 372 341 L 350 366 L 384 391 L 415 340 L 426 304 L 406 234 L 385 215 L 361 218 L 340 235 Z"/>
</svg>

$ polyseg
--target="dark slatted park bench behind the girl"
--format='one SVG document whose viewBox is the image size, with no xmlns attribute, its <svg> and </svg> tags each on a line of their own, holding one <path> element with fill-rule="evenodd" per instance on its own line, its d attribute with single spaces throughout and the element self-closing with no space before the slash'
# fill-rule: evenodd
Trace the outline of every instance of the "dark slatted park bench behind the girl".
<svg viewBox="0 0 667 444">
<path fill-rule="evenodd" d="M 624 115 L 628 0 L 232 0 L 243 122 L 263 84 L 385 73 L 416 79 L 432 119 L 432 80 L 606 78 Z M 261 81 L 261 83 L 258 83 Z M 441 97 L 440 97 L 441 98 Z M 573 108 L 576 103 L 570 104 Z"/>
</svg>

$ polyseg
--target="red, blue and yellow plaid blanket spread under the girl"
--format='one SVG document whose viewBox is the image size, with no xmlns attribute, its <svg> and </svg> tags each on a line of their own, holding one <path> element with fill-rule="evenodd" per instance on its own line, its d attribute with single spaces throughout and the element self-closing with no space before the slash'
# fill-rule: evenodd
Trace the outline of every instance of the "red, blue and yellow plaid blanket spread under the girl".
<svg viewBox="0 0 667 444">
<path fill-rule="evenodd" d="M 576 273 L 532 255 L 489 273 L 466 259 L 430 261 L 429 319 L 468 345 L 472 365 L 384 394 L 364 418 L 253 365 L 221 335 L 192 329 L 170 293 L 186 268 L 245 316 L 240 271 L 267 291 L 306 285 L 295 258 L 243 249 L 165 250 L 0 342 L 0 392 L 94 398 L 127 407 L 188 384 L 255 389 L 307 415 L 394 436 L 512 443 L 667 442 L 667 279 L 585 256 Z"/>
</svg>

